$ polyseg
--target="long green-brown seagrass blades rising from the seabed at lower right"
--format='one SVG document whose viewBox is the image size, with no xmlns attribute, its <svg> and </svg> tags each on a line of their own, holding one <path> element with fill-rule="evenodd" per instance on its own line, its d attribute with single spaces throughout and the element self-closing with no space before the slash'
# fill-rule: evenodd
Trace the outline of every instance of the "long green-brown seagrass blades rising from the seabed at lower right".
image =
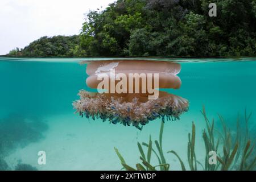
<svg viewBox="0 0 256 182">
<path fill-rule="evenodd" d="M 197 170 L 197 164 L 200 164 L 201 169 L 205 171 L 214 171 L 214 170 L 253 170 L 256 166 L 256 156 L 255 156 L 255 141 L 251 142 L 248 122 L 251 117 L 251 113 L 249 115 L 246 114 L 245 110 L 245 134 L 242 134 L 242 129 L 240 127 L 240 117 L 238 115 L 237 118 L 237 131 L 235 134 L 232 134 L 232 131 L 226 126 L 225 120 L 222 115 L 218 115 L 220 118 L 223 131 L 218 131 L 214 129 L 214 119 L 212 122 L 209 121 L 207 114 L 205 112 L 205 108 L 201 113 L 204 116 L 204 120 L 206 123 L 206 129 L 203 131 L 203 140 L 205 145 L 205 162 L 204 165 L 196 159 L 195 154 L 195 137 L 196 137 L 196 126 L 195 123 L 192 123 L 192 133 L 188 134 L 188 148 L 187 148 L 187 158 L 188 158 L 188 166 L 191 171 Z M 115 148 L 115 152 L 117 153 L 119 159 L 121 160 L 121 164 L 123 168 L 127 170 L 156 170 L 159 167 L 160 170 L 168 170 L 170 169 L 170 164 L 166 162 L 164 158 L 164 152 L 162 148 L 162 139 L 163 139 L 163 127 L 164 123 L 161 123 L 159 141 L 155 140 L 155 146 L 157 150 L 155 151 L 152 148 L 151 137 L 149 139 L 148 144 L 142 143 L 143 146 L 147 147 L 147 158 L 143 151 L 141 144 L 138 142 L 139 152 L 141 154 L 140 159 L 142 160 L 142 164 L 136 164 L 136 169 L 128 166 L 125 163 L 125 160 L 118 152 L 117 148 Z M 222 152 L 220 152 L 219 148 L 222 147 Z M 217 163 L 210 164 L 209 163 L 209 153 L 216 152 L 217 154 Z M 151 154 L 152 152 L 155 154 L 156 158 L 158 158 L 159 165 L 153 166 L 150 164 Z M 167 153 L 174 154 L 180 162 L 181 169 L 183 171 L 186 170 L 183 160 L 175 151 L 168 151 Z"/>
</svg>

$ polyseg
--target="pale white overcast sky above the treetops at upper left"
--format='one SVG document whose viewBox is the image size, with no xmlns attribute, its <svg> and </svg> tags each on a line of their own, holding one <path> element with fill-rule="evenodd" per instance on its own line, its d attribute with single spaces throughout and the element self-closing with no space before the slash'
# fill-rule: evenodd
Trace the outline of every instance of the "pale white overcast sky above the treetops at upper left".
<svg viewBox="0 0 256 182">
<path fill-rule="evenodd" d="M 0 55 L 42 36 L 79 34 L 85 13 L 115 0 L 0 0 Z"/>
</svg>

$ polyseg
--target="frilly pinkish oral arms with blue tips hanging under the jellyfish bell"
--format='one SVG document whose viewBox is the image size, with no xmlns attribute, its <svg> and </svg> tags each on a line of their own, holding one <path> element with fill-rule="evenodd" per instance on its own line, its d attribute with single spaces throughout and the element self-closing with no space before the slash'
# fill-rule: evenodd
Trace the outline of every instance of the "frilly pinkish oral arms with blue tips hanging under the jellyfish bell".
<svg viewBox="0 0 256 182">
<path fill-rule="evenodd" d="M 179 119 L 188 110 L 189 102 L 185 98 L 161 92 L 157 100 L 140 101 L 137 96 L 131 102 L 111 94 L 90 93 L 80 90 L 80 100 L 73 102 L 76 113 L 86 118 L 109 119 L 110 123 L 122 123 L 137 128 L 161 118 L 162 121 Z M 127 96 L 128 97 L 128 96 Z"/>
</svg>

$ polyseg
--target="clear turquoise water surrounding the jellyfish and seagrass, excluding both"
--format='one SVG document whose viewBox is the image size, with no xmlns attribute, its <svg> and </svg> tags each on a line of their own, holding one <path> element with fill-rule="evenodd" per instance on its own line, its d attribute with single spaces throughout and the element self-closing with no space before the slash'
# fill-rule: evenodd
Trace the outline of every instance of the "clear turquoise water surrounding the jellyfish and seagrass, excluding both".
<svg viewBox="0 0 256 182">
<path fill-rule="evenodd" d="M 79 98 L 80 89 L 88 89 L 81 60 L 86 59 L 0 59 L 0 159 L 9 169 L 24 163 L 40 170 L 119 170 L 122 166 L 114 147 L 135 166 L 137 142 L 147 142 L 150 134 L 158 139 L 158 119 L 139 131 L 74 114 L 72 101 Z M 256 59 L 179 61 L 181 88 L 168 92 L 187 98 L 190 106 L 180 121 L 166 122 L 164 149 L 176 150 L 185 161 L 187 134 L 194 121 L 196 152 L 199 160 L 204 159 L 203 105 L 217 127 L 217 114 L 222 114 L 231 129 L 236 129 L 238 113 L 252 111 L 249 129 L 255 140 Z M 45 165 L 38 164 L 38 151 L 46 151 Z M 171 169 L 180 169 L 174 156 L 168 154 L 167 159 Z"/>
</svg>

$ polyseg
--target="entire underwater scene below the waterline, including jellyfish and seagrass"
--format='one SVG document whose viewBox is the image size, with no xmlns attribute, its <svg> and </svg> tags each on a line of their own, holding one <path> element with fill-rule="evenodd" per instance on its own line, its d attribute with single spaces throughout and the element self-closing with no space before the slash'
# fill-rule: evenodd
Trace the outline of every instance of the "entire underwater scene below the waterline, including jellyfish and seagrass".
<svg viewBox="0 0 256 182">
<path fill-rule="evenodd" d="M 97 93 L 109 66 L 160 72 L 158 98 Z M 255 57 L 1 57 L 0 170 L 255 170 L 255 68 Z"/>
</svg>

